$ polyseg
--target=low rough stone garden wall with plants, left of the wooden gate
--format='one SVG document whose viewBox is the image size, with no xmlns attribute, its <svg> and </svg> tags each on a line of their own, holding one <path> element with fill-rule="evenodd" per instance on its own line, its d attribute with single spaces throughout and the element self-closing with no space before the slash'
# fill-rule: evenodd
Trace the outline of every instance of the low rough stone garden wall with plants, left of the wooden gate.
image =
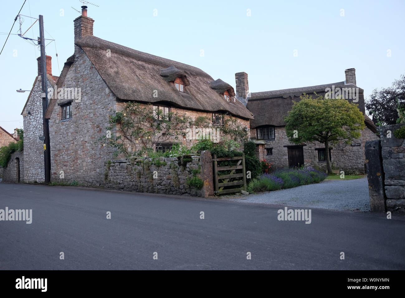
<svg viewBox="0 0 405 298">
<path fill-rule="evenodd" d="M 207 197 L 213 195 L 212 175 L 212 159 L 208 152 L 201 157 L 106 161 L 104 180 L 106 189 Z M 202 189 L 187 185 L 187 180 L 194 176 L 203 180 Z"/>
</svg>

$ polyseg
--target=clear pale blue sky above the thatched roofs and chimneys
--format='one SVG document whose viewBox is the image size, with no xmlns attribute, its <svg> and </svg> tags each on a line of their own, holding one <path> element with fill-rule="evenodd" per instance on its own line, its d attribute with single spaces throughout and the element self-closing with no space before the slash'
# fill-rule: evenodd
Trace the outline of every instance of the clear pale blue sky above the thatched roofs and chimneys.
<svg viewBox="0 0 405 298">
<path fill-rule="evenodd" d="M 245 71 L 251 92 L 343 81 L 344 70 L 354 67 L 357 85 L 368 96 L 405 73 L 404 1 L 92 2 L 100 5 L 87 5 L 95 36 L 196 66 L 232 86 L 234 73 Z M 22 3 L 2 3 L 0 32 L 9 32 Z M 60 74 L 73 54 L 73 19 L 79 13 L 70 6 L 80 11 L 81 5 L 79 0 L 27 0 L 21 11 L 42 14 L 45 37 L 56 39 L 59 68 L 55 44 L 46 48 L 53 75 Z M 31 19 L 24 17 L 23 32 L 30 25 Z M 17 21 L 11 33 L 18 31 Z M 37 23 L 26 36 L 38 35 Z M 0 34 L 1 47 L 6 36 Z M 298 57 L 293 56 L 295 49 Z M 17 35 L 9 37 L 0 55 L 0 126 L 9 132 L 22 127 L 28 92 L 15 90 L 31 89 L 39 55 L 37 47 Z"/>
</svg>

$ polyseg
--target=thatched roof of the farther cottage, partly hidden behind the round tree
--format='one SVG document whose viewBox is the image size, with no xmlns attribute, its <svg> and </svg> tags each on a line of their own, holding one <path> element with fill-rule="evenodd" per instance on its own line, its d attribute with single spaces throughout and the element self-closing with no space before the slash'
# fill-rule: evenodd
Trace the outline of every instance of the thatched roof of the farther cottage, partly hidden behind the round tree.
<svg viewBox="0 0 405 298">
<path fill-rule="evenodd" d="M 344 81 L 309 86 L 302 88 L 290 88 L 283 90 L 273 90 L 265 92 L 252 92 L 249 97 L 246 107 L 254 115 L 254 119 L 250 120 L 250 128 L 255 128 L 260 125 L 274 125 L 284 126 L 284 118 L 288 115 L 288 111 L 291 111 L 294 101 L 300 101 L 300 96 L 305 94 L 314 95 L 314 92 L 318 95 L 324 96 L 326 94 L 325 89 L 335 86 L 336 88 L 358 88 L 353 84 L 345 84 Z M 364 90 L 359 88 L 358 108 L 360 111 L 364 110 Z"/>
</svg>

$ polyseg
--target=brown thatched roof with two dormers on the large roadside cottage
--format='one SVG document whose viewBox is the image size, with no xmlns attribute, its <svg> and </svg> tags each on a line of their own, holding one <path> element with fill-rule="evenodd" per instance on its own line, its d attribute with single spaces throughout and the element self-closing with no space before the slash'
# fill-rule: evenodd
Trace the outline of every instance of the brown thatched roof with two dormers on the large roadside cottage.
<svg viewBox="0 0 405 298">
<path fill-rule="evenodd" d="M 214 79 L 196 67 L 92 35 L 83 36 L 75 44 L 83 49 L 117 99 L 143 103 L 167 102 L 185 109 L 228 112 L 245 119 L 253 118 L 241 102 L 228 102 L 213 90 L 210 83 Z M 111 51 L 110 57 L 106 55 L 107 49 Z M 185 75 L 188 79 L 190 85 L 185 92 L 179 92 L 168 83 L 167 78 L 174 75 Z M 155 90 L 157 97 L 153 97 Z"/>
</svg>

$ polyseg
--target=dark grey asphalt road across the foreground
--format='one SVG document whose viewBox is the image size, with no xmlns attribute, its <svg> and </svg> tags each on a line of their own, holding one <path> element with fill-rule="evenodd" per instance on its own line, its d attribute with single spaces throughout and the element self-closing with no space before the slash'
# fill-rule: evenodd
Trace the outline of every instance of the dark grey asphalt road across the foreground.
<svg viewBox="0 0 405 298">
<path fill-rule="evenodd" d="M 0 183 L 5 207 L 32 223 L 0 221 L 2 270 L 405 269 L 396 214 L 312 209 L 305 224 L 278 221 L 284 206 Z"/>
</svg>

